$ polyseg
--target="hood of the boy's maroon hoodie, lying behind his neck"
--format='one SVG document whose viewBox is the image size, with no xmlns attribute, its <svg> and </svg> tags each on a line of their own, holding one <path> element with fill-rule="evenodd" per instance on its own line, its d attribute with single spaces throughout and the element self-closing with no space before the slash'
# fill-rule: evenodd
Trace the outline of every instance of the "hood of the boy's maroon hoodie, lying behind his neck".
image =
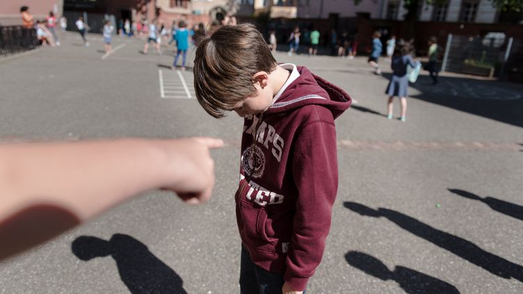
<svg viewBox="0 0 523 294">
<path fill-rule="evenodd" d="M 296 69 L 300 76 L 289 84 L 282 96 L 268 108 L 266 115 L 316 104 L 328 108 L 336 119 L 351 106 L 351 97 L 337 85 L 312 74 L 306 67 L 296 67 Z"/>
</svg>

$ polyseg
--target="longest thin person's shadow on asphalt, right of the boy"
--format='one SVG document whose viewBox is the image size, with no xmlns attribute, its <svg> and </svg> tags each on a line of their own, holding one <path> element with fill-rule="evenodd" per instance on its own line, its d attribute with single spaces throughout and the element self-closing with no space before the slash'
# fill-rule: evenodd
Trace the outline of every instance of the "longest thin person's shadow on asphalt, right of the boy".
<svg viewBox="0 0 523 294">
<path fill-rule="evenodd" d="M 465 259 L 488 272 L 505 279 L 515 278 L 523 281 L 523 267 L 503 259 L 497 255 L 478 247 L 476 244 L 458 236 L 435 229 L 424 222 L 420 222 L 408 215 L 393 211 L 391 209 L 371 209 L 355 202 L 344 202 L 344 206 L 355 213 L 373 218 L 384 217 L 394 222 L 402 229 L 410 231 L 420 238 L 448 250 L 462 259 Z"/>
</svg>

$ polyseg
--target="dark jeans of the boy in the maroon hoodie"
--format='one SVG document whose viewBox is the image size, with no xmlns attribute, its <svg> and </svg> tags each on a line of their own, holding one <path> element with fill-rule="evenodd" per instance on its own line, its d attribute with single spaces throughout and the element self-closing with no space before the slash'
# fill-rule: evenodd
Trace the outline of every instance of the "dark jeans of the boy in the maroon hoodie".
<svg viewBox="0 0 523 294">
<path fill-rule="evenodd" d="M 250 260 L 249 252 L 241 245 L 241 294 L 281 294 L 283 284 L 282 272 L 268 272 L 255 265 Z"/>
</svg>

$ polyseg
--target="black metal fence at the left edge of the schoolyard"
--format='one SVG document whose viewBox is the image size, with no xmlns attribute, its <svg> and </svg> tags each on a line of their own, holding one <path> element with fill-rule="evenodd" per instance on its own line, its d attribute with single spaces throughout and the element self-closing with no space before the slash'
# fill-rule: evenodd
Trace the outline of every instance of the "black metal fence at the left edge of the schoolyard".
<svg viewBox="0 0 523 294">
<path fill-rule="evenodd" d="M 0 56 L 38 47 L 36 30 L 22 26 L 0 26 Z"/>
</svg>

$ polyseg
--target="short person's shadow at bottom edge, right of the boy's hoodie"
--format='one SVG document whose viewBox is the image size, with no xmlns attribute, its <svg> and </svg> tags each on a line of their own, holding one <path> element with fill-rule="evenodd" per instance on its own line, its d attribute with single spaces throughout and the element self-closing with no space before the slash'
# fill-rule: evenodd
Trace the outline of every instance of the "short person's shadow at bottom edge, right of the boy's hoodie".
<svg viewBox="0 0 523 294">
<path fill-rule="evenodd" d="M 422 272 L 411 270 L 403 266 L 396 266 L 391 271 L 375 257 L 363 252 L 349 251 L 345 259 L 351 266 L 366 272 L 383 281 L 393 280 L 405 293 L 446 293 L 458 294 L 460 291 L 455 286 Z"/>
</svg>

